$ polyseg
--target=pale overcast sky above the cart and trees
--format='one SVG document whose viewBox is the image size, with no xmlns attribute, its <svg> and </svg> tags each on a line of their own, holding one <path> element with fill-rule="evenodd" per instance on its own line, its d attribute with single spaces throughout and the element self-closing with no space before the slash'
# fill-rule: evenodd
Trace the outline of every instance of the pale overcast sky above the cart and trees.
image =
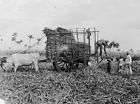
<svg viewBox="0 0 140 104">
<path fill-rule="evenodd" d="M 100 39 L 140 50 L 139 0 L 0 0 L 1 49 L 17 49 L 10 36 L 17 32 L 41 37 L 44 27 L 96 27 Z M 45 39 L 44 39 L 45 41 Z M 44 47 L 43 43 L 41 44 Z"/>
</svg>

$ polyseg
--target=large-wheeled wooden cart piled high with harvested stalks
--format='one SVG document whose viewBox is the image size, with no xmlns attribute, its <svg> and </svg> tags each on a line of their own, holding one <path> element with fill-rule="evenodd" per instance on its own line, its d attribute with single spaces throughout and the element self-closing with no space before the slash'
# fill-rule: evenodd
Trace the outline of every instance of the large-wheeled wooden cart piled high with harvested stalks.
<svg viewBox="0 0 140 104">
<path fill-rule="evenodd" d="M 55 70 L 69 71 L 87 66 L 91 55 L 90 29 L 45 28 L 47 37 L 46 58 L 53 62 Z"/>
</svg>

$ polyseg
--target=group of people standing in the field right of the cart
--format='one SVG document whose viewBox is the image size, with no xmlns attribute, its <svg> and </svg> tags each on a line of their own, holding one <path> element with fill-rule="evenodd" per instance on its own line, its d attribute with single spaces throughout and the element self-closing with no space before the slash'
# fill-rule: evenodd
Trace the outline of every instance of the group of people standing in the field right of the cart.
<svg viewBox="0 0 140 104">
<path fill-rule="evenodd" d="M 107 61 L 107 72 L 111 73 L 112 63 L 114 63 L 114 60 L 108 59 Z M 132 57 L 129 53 L 126 54 L 125 58 L 116 59 L 116 62 L 118 65 L 117 72 L 121 73 L 125 71 L 127 74 L 132 75 Z"/>
</svg>

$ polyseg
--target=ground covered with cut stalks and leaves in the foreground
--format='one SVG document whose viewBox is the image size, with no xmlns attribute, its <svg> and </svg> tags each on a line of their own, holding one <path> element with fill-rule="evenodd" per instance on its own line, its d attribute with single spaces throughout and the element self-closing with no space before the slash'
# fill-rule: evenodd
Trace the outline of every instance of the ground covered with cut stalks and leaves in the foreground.
<svg viewBox="0 0 140 104">
<path fill-rule="evenodd" d="M 138 104 L 140 76 L 107 74 L 105 62 L 74 72 L 56 72 L 43 63 L 38 73 L 1 71 L 0 98 L 7 104 Z"/>
</svg>

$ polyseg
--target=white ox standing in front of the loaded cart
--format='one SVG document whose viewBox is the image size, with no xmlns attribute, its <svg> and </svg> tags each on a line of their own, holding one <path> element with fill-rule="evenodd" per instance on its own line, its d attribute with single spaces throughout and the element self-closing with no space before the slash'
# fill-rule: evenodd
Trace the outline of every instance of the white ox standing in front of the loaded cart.
<svg viewBox="0 0 140 104">
<path fill-rule="evenodd" d="M 4 68 L 12 67 L 16 72 L 19 66 L 34 64 L 35 70 L 38 71 L 39 58 L 40 58 L 39 53 L 25 53 L 25 54 L 16 53 L 8 57 L 6 59 L 6 62 L 3 63 L 2 66 Z"/>
</svg>

